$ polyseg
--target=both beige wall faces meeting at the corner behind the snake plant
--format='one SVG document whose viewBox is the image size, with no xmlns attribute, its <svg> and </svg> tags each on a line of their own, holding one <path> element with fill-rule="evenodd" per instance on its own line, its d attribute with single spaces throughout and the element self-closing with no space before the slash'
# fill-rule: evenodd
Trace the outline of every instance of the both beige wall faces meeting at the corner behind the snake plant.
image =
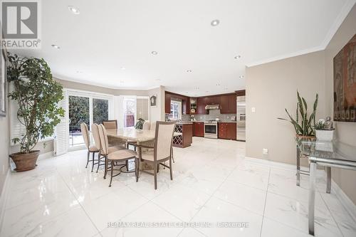
<svg viewBox="0 0 356 237">
<path fill-rule="evenodd" d="M 333 117 L 333 58 L 356 33 L 356 6 L 325 48 L 273 63 L 246 68 L 246 156 L 295 164 L 293 127 L 276 117 L 286 117 L 284 107 L 295 115 L 295 90 L 310 105 L 319 93 L 317 118 Z M 256 113 L 251 112 L 256 107 Z M 335 122 L 341 142 L 356 146 L 356 123 Z M 268 156 L 262 149 L 268 148 Z M 334 181 L 356 204 L 356 172 L 333 169 Z"/>
</svg>

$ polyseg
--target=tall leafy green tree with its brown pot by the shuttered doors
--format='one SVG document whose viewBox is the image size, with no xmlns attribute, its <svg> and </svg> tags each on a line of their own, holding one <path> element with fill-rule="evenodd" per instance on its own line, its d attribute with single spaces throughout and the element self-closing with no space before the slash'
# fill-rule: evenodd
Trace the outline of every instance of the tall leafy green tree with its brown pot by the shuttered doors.
<svg viewBox="0 0 356 237">
<path fill-rule="evenodd" d="M 20 152 L 11 154 L 16 171 L 36 167 L 39 155 L 33 150 L 40 138 L 50 137 L 64 110 L 58 107 L 63 99 L 63 87 L 52 78 L 51 69 L 43 58 L 20 58 L 8 53 L 7 80 L 13 83 L 9 98 L 19 105 L 17 118 L 25 127 L 20 137 L 11 141 L 20 144 Z"/>
</svg>

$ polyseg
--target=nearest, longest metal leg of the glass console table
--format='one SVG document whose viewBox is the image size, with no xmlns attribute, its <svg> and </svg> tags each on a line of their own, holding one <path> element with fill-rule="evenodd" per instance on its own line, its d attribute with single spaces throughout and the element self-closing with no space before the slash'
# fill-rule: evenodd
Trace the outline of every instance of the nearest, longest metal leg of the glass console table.
<svg viewBox="0 0 356 237">
<path fill-rule="evenodd" d="M 314 236 L 315 173 L 316 163 L 310 162 L 308 222 L 309 234 L 312 236 Z"/>
</svg>

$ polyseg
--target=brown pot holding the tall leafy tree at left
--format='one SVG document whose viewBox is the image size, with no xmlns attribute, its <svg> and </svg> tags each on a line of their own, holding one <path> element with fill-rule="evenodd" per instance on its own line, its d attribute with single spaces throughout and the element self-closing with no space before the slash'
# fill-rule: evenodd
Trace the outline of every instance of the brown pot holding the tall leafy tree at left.
<svg viewBox="0 0 356 237">
<path fill-rule="evenodd" d="M 10 154 L 11 159 L 16 164 L 16 171 L 23 172 L 30 169 L 35 169 L 36 162 L 40 151 L 31 151 L 30 153 L 17 152 Z"/>
</svg>

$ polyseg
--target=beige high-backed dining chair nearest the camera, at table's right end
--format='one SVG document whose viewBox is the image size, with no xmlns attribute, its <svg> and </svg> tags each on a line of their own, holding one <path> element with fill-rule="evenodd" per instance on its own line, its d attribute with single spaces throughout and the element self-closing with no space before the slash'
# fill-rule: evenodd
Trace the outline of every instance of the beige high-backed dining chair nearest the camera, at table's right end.
<svg viewBox="0 0 356 237">
<path fill-rule="evenodd" d="M 169 168 L 169 174 L 171 180 L 172 176 L 172 143 L 173 143 L 173 132 L 174 132 L 175 122 L 160 122 L 156 124 L 155 130 L 155 145 L 153 147 L 144 146 L 141 144 L 135 144 L 138 147 L 138 159 L 136 165 L 136 181 L 138 181 L 140 176 L 140 162 L 147 162 L 152 164 L 153 173 L 142 170 L 147 174 L 151 174 L 155 180 L 155 189 L 157 189 L 157 172 L 159 165 Z M 142 148 L 150 149 L 149 152 L 142 152 Z M 169 166 L 164 164 L 164 162 L 169 161 Z"/>
</svg>

